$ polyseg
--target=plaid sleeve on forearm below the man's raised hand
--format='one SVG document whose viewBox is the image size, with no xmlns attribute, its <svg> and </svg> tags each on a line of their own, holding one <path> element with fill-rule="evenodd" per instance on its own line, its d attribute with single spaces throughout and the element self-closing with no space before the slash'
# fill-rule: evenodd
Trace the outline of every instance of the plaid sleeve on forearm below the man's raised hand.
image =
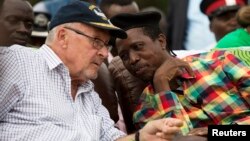
<svg viewBox="0 0 250 141">
<path fill-rule="evenodd" d="M 134 112 L 134 123 L 142 127 L 150 120 L 164 117 L 182 119 L 184 125 L 181 131 L 184 135 L 192 128 L 190 119 L 181 105 L 179 97 L 171 91 L 154 94 L 152 86 L 149 85 L 144 89 Z"/>
</svg>

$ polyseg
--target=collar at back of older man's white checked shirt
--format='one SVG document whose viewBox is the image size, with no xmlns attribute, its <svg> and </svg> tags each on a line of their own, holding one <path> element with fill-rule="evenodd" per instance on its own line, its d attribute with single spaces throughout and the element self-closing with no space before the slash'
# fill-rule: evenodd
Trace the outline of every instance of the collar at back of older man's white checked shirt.
<svg viewBox="0 0 250 141">
<path fill-rule="evenodd" d="M 48 64 L 50 70 L 56 68 L 60 64 L 63 64 L 62 60 L 47 45 L 44 44 L 39 50 L 43 54 L 43 56 L 46 60 L 46 63 Z"/>
</svg>

